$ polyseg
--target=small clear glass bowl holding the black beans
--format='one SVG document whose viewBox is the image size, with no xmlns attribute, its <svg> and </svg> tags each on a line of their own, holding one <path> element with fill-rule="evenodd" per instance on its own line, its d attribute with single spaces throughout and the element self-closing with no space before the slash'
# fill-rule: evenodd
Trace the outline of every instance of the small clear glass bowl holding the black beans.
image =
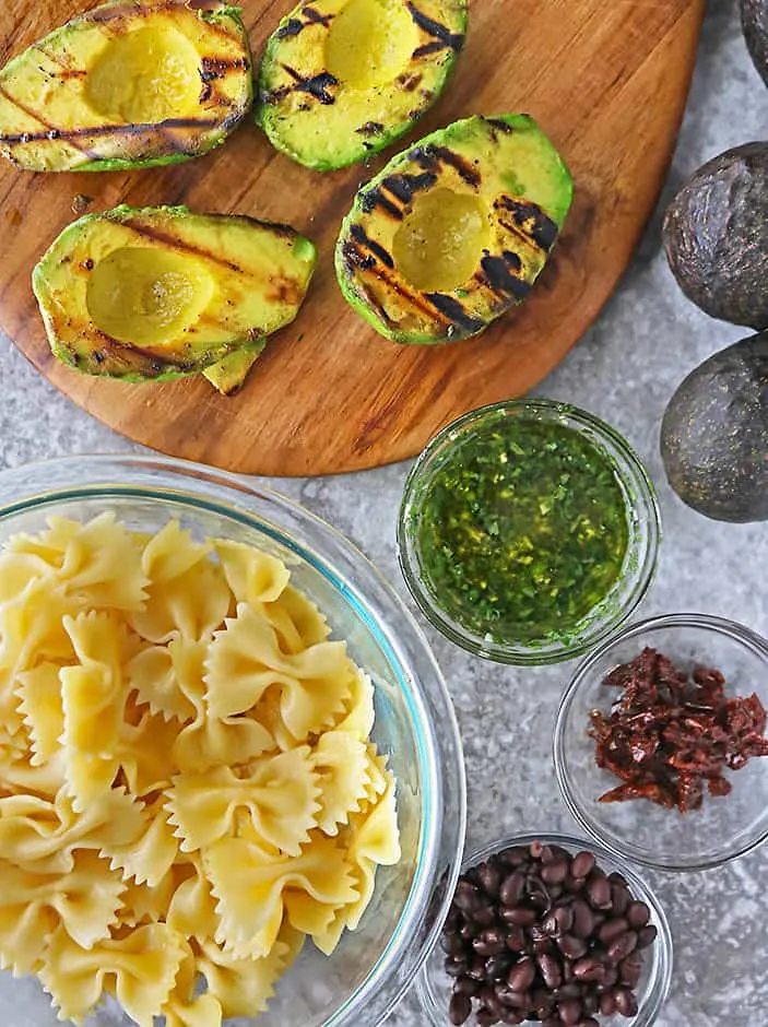
<svg viewBox="0 0 768 1027">
<path fill-rule="evenodd" d="M 598 861 L 598 865 L 606 874 L 618 872 L 626 878 L 627 884 L 634 897 L 646 905 L 651 910 L 650 922 L 655 924 L 659 931 L 654 944 L 643 952 L 643 970 L 638 987 L 635 989 L 638 1011 L 631 1019 L 622 1016 L 601 1016 L 602 1027 L 651 1027 L 654 1024 L 672 984 L 672 931 L 659 900 L 642 881 L 641 877 L 621 862 L 615 855 L 612 855 L 607 849 L 595 845 L 592 841 L 586 841 L 575 838 L 571 835 L 560 834 L 528 834 L 510 835 L 499 841 L 476 849 L 464 860 L 461 871 L 464 873 L 489 855 L 501 852 L 511 846 L 530 846 L 532 841 L 541 841 L 543 845 L 560 846 L 569 852 L 581 852 L 587 850 L 592 852 Z M 416 993 L 422 1008 L 427 1015 L 433 1027 L 450 1027 L 448 1018 L 448 1003 L 451 996 L 451 978 L 444 969 L 445 953 L 438 945 L 424 964 L 422 972 L 416 979 Z M 472 1022 L 470 1022 L 472 1023 Z"/>
</svg>

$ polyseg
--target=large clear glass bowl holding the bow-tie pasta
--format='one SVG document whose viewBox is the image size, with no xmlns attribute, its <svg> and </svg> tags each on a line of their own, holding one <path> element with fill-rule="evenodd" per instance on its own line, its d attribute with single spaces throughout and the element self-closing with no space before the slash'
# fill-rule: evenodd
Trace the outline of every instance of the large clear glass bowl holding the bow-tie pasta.
<svg viewBox="0 0 768 1027">
<path fill-rule="evenodd" d="M 379 1024 L 418 972 L 440 931 L 459 873 L 465 783 L 457 721 L 430 650 L 411 615 L 362 553 L 308 511 L 260 486 L 208 468 L 152 457 L 79 457 L 0 474 L 0 545 L 46 518 L 113 510 L 155 532 L 170 518 L 205 535 L 258 545 L 290 565 L 327 614 L 333 637 L 376 685 L 379 749 L 398 781 L 402 861 L 382 867 L 359 929 L 330 957 L 311 944 L 277 985 L 270 1011 L 240 1027 Z M 3 1027 L 58 1023 L 35 982 L 0 973 Z M 123 1023 L 114 1006 L 94 1027 Z M 130 1023 L 125 1018 L 125 1023 Z"/>
</svg>

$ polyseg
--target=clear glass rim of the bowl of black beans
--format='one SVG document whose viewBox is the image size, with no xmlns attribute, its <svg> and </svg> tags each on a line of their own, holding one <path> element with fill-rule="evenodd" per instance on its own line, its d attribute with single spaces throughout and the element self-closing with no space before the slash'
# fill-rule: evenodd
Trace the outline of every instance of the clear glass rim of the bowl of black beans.
<svg viewBox="0 0 768 1027">
<path fill-rule="evenodd" d="M 560 845 L 564 848 L 586 849 L 592 852 L 598 863 L 607 861 L 618 869 L 633 889 L 635 898 L 645 901 L 651 908 L 652 922 L 659 931 L 654 952 L 654 977 L 651 980 L 647 1005 L 641 1006 L 629 1027 L 652 1027 L 659 1017 L 672 989 L 672 973 L 674 968 L 674 943 L 672 940 L 672 928 L 670 925 L 666 911 L 654 889 L 638 874 L 633 867 L 626 865 L 626 861 L 618 853 L 612 852 L 600 841 L 591 838 L 579 838 L 576 835 L 569 835 L 566 831 L 523 831 L 519 834 L 505 835 L 500 839 L 478 846 L 464 857 L 461 863 L 461 873 L 465 873 L 472 866 L 476 866 L 483 860 L 486 860 L 495 852 L 500 852 L 511 846 L 529 846 L 533 841 L 541 841 L 543 845 Z M 601 864 L 602 865 L 602 864 Z M 422 967 L 416 978 L 415 992 L 420 1005 L 433 1027 L 446 1027 L 448 1024 L 448 1012 L 445 1007 L 438 1007 L 435 992 L 429 980 L 429 969 Z M 640 1014 L 643 1014 L 642 1016 Z"/>
</svg>

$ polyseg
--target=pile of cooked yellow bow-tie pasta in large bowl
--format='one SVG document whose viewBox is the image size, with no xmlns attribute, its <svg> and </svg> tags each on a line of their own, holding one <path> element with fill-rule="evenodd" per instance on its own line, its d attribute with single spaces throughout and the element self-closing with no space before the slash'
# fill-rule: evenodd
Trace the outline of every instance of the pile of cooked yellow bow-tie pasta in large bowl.
<svg viewBox="0 0 768 1027">
<path fill-rule="evenodd" d="M 0 967 L 62 1018 L 263 1012 L 400 858 L 373 686 L 287 568 L 51 518 L 0 552 Z M 201 985 L 201 982 L 202 983 Z"/>
</svg>

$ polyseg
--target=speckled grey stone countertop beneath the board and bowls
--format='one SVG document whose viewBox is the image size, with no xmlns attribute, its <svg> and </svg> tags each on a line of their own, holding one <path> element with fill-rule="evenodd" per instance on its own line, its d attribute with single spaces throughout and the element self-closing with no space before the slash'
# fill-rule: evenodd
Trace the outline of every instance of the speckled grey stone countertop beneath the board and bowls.
<svg viewBox="0 0 768 1027">
<path fill-rule="evenodd" d="M 712 0 L 662 205 L 705 160 L 760 138 L 768 138 L 768 91 L 746 56 L 737 2 Z M 709 522 L 677 501 L 663 480 L 658 430 L 666 400 L 696 364 L 746 332 L 716 323 L 685 302 L 666 269 L 659 224 L 660 214 L 598 324 L 537 392 L 612 422 L 648 461 L 661 494 L 665 543 L 643 614 L 701 610 L 768 634 L 768 524 Z M 4 342 L 0 381 L 0 465 L 135 449 L 54 391 Z M 402 592 L 394 523 L 406 471 L 399 465 L 275 484 L 347 534 Z M 506 670 L 430 637 L 465 746 L 468 843 L 488 841 L 499 829 L 572 830 L 550 756 L 553 718 L 571 668 Z M 706 874 L 646 876 L 666 906 L 676 945 L 673 993 L 659 1027 L 768 1027 L 768 849 Z M 0 975 L 0 1023 L 34 1027 L 35 1001 L 27 1006 L 28 993 L 22 998 L 8 983 Z M 425 1017 L 409 996 L 390 1023 L 416 1027 Z"/>
</svg>

